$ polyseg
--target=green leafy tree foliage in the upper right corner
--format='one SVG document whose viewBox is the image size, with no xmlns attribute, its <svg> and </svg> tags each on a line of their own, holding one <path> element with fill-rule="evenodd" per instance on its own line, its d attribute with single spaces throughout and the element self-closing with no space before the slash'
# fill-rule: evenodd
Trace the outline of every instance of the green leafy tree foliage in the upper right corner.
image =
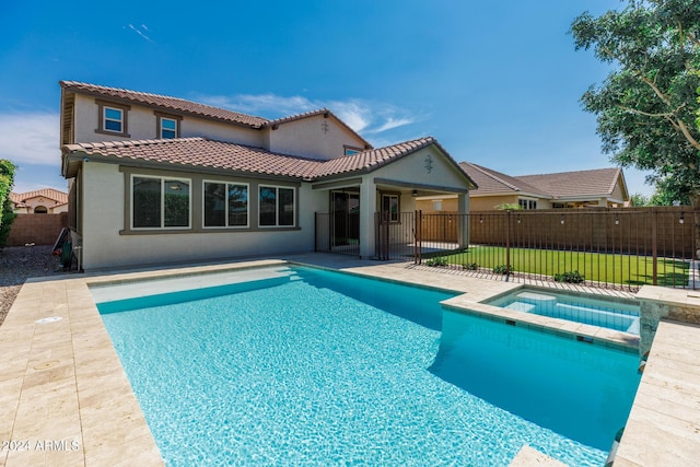
<svg viewBox="0 0 700 467">
<path fill-rule="evenodd" d="M 653 171 L 666 195 L 700 200 L 700 2 L 630 0 L 621 11 L 571 26 L 576 49 L 614 66 L 582 96 L 597 116 L 603 150 L 623 166 Z"/>
</svg>

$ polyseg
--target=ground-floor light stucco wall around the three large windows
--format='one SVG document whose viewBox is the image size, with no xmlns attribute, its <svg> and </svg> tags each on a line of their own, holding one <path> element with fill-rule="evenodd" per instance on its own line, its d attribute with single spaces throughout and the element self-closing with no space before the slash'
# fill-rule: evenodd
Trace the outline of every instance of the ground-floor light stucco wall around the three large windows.
<svg viewBox="0 0 700 467">
<path fill-rule="evenodd" d="M 84 165 L 83 209 L 88 221 L 82 227 L 82 267 L 85 270 L 313 252 L 314 212 L 327 206 L 328 196 L 327 191 L 301 186 L 296 202 L 299 225 L 291 230 L 185 230 L 125 234 L 125 179 L 128 177 L 116 164 L 91 162 Z M 262 183 L 276 184 L 270 180 Z M 192 190 L 196 189 L 194 186 Z M 250 197 L 254 195 L 252 190 Z M 201 210 L 195 199 L 191 209 Z M 257 227 L 257 211 L 252 209 L 249 217 L 250 225 Z"/>
</svg>

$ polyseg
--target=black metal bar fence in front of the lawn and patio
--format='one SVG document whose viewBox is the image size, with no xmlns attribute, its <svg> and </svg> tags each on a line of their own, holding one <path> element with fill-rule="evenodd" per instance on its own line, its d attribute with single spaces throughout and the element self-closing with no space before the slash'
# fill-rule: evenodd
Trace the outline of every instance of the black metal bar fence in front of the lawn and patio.
<svg viewBox="0 0 700 467">
<path fill-rule="evenodd" d="M 359 256 L 334 222 L 316 214 L 316 249 Z M 377 212 L 375 257 L 513 281 L 698 289 L 696 224 L 700 211 L 687 207 Z"/>
</svg>

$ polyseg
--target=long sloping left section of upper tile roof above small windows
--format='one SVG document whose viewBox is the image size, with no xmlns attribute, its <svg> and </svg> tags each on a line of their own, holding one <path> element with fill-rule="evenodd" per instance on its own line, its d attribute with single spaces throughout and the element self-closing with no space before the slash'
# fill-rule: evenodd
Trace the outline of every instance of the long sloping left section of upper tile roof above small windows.
<svg viewBox="0 0 700 467">
<path fill-rule="evenodd" d="M 82 92 L 86 94 L 117 98 L 120 101 L 145 104 L 172 112 L 192 114 L 200 117 L 213 118 L 228 122 L 244 125 L 250 128 L 262 128 L 269 120 L 253 115 L 241 114 L 238 112 L 226 110 L 224 108 L 212 107 L 179 97 L 170 97 L 160 94 L 151 94 L 138 91 L 129 91 L 119 87 L 100 86 L 96 84 L 81 83 L 78 81 L 60 81 L 59 84 L 65 90 Z"/>
</svg>

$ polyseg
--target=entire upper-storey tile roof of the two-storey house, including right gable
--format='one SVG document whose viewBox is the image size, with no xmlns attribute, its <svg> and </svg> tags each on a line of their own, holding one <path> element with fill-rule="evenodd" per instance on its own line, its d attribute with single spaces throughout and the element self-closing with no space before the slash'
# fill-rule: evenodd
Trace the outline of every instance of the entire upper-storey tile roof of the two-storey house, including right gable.
<svg viewBox="0 0 700 467">
<path fill-rule="evenodd" d="M 332 116 L 342 127 L 345 127 L 352 135 L 363 141 L 365 148 L 372 148 L 364 138 L 362 138 L 357 131 L 350 128 L 345 121 L 336 117 L 332 112 L 327 108 L 318 110 L 307 112 L 304 114 L 293 115 L 290 117 L 278 118 L 269 120 L 262 117 L 256 117 L 253 115 L 242 114 L 240 112 L 228 110 L 225 108 L 213 107 L 206 104 L 199 104 L 197 102 L 186 101 L 179 97 L 171 97 L 160 94 L 151 94 L 139 91 L 130 91 L 120 87 L 101 86 L 97 84 L 81 83 L 78 81 L 60 81 L 59 84 L 65 90 L 72 92 L 80 92 L 83 94 L 95 95 L 100 97 L 106 97 L 112 100 L 118 100 L 121 102 L 138 103 L 160 109 L 171 110 L 178 114 L 190 114 L 198 117 L 212 118 L 225 122 L 232 122 L 243 125 L 254 129 L 262 128 L 277 128 L 280 125 L 296 121 L 304 118 L 315 117 L 317 115 L 324 115 L 325 117 Z"/>
</svg>

